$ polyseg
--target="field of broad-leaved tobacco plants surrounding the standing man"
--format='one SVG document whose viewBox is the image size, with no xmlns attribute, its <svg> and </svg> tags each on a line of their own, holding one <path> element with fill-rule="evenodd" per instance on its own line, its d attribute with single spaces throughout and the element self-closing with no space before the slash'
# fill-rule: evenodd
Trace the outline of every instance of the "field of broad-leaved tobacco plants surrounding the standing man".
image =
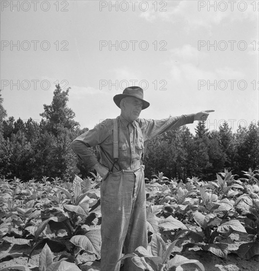
<svg viewBox="0 0 259 271">
<path fill-rule="evenodd" d="M 258 271 L 259 170 L 215 180 L 146 179 L 143 271 Z M 100 270 L 99 175 L 0 179 L 0 271 Z"/>
</svg>

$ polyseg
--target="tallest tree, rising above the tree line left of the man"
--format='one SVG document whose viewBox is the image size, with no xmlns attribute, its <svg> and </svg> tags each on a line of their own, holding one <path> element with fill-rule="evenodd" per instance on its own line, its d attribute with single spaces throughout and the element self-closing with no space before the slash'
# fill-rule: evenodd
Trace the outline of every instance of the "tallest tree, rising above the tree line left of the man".
<svg viewBox="0 0 259 271">
<path fill-rule="evenodd" d="M 73 120 L 75 113 L 67 106 L 68 92 L 62 91 L 60 85 L 56 85 L 52 103 L 44 104 L 44 112 L 40 116 L 42 120 L 40 128 L 41 139 L 46 145 L 38 142 L 38 162 L 42 166 L 40 172 L 51 176 L 69 179 L 73 173 L 77 173 L 75 155 L 71 149 L 71 141 L 76 137 L 78 122 Z M 39 165 L 40 166 L 40 165 Z M 38 172 L 38 174 L 40 173 Z"/>
</svg>

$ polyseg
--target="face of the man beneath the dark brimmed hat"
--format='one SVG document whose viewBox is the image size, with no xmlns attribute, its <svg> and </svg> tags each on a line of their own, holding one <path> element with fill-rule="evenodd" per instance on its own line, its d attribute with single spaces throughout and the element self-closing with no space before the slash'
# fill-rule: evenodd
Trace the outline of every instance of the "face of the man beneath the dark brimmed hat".
<svg viewBox="0 0 259 271">
<path fill-rule="evenodd" d="M 134 121 L 139 117 L 142 110 L 142 101 L 134 97 L 126 97 L 123 99 L 122 114 L 129 121 Z"/>
</svg>

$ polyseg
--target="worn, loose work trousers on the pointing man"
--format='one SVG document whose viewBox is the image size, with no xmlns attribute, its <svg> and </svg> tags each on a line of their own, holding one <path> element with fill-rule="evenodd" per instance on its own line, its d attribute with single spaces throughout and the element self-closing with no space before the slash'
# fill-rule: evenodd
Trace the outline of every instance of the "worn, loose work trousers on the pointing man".
<svg viewBox="0 0 259 271">
<path fill-rule="evenodd" d="M 110 173 L 101 182 L 101 271 L 119 271 L 124 254 L 147 248 L 144 167 Z M 124 271 L 139 271 L 125 259 Z"/>
</svg>

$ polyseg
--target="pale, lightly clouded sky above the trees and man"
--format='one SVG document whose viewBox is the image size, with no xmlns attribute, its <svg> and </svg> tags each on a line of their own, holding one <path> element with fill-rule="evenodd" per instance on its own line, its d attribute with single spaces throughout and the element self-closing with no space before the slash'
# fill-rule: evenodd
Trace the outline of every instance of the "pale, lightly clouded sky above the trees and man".
<svg viewBox="0 0 259 271">
<path fill-rule="evenodd" d="M 113 97 L 134 85 L 150 102 L 142 118 L 214 109 L 209 130 L 259 121 L 258 0 L 0 4 L 7 118 L 40 121 L 60 83 L 81 128 L 118 116 Z"/>
</svg>

